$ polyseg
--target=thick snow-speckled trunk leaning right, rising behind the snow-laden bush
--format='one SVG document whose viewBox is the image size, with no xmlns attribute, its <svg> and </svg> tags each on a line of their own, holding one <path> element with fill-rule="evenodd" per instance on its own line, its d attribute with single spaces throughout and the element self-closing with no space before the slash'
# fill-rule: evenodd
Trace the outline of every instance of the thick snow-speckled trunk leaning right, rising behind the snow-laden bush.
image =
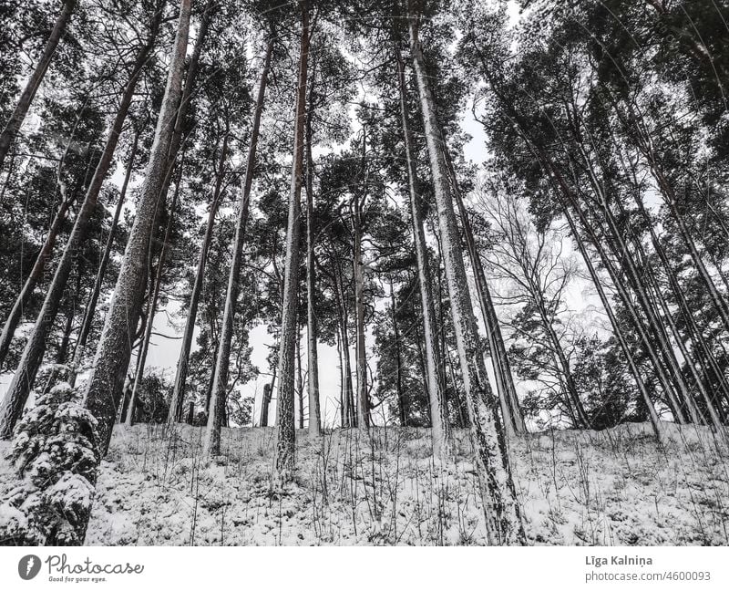
<svg viewBox="0 0 729 591">
<path fill-rule="evenodd" d="M 108 450 L 116 414 L 115 400 L 118 399 L 124 384 L 131 355 L 131 339 L 137 327 L 144 297 L 147 279 L 145 261 L 155 224 L 157 200 L 167 169 L 169 143 L 180 104 L 182 69 L 190 28 L 190 3 L 191 0 L 180 0 L 180 24 L 175 37 L 155 139 L 149 152 L 145 181 L 139 194 L 137 212 L 129 233 L 114 296 L 99 339 L 94 368 L 88 380 L 85 405 L 98 420 L 102 453 Z"/>
</svg>

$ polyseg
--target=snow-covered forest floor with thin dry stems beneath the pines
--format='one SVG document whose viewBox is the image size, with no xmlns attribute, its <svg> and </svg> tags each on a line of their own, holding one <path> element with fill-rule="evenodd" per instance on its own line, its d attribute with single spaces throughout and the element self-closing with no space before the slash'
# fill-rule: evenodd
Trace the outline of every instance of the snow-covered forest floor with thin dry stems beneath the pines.
<svg viewBox="0 0 729 591">
<path fill-rule="evenodd" d="M 530 544 L 729 544 L 729 451 L 705 428 L 552 431 L 510 444 Z M 296 477 L 272 493 L 272 428 L 225 429 L 201 461 L 202 429 L 118 426 L 87 544 L 485 544 L 465 430 L 454 461 L 429 430 L 297 433 Z M 0 447 L 0 493 L 12 484 Z"/>
</svg>

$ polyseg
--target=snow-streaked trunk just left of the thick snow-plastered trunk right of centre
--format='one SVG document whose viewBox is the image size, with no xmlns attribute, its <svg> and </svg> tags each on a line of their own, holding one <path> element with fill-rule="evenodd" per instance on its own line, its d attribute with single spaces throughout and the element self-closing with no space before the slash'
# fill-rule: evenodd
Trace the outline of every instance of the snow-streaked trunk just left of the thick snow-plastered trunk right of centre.
<svg viewBox="0 0 729 591">
<path fill-rule="evenodd" d="M 426 232 L 423 227 L 423 203 L 420 197 L 420 182 L 417 178 L 413 158 L 413 138 L 407 123 L 407 88 L 405 69 L 400 50 L 395 46 L 397 79 L 400 94 L 400 125 L 403 131 L 407 165 L 407 186 L 410 197 L 410 216 L 413 225 L 413 239 L 416 245 L 417 279 L 420 286 L 420 306 L 423 311 L 423 333 L 425 337 L 426 379 L 430 406 L 430 424 L 433 439 L 433 453 L 444 457 L 449 450 L 449 426 L 446 407 L 446 367 L 439 355 L 436 330 L 436 311 L 430 288 L 430 263 L 428 261 Z M 394 314 L 394 313 L 393 313 Z M 394 318 L 395 316 L 393 316 Z"/>
</svg>

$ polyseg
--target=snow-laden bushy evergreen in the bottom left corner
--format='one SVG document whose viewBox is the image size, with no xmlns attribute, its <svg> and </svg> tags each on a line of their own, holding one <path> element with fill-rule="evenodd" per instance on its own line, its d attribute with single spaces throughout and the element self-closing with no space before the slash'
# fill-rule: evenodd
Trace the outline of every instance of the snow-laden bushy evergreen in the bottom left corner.
<svg viewBox="0 0 729 591">
<path fill-rule="evenodd" d="M 21 482 L 0 501 L 0 544 L 83 542 L 100 461 L 96 428 L 67 383 L 26 411 L 9 453 Z"/>
</svg>

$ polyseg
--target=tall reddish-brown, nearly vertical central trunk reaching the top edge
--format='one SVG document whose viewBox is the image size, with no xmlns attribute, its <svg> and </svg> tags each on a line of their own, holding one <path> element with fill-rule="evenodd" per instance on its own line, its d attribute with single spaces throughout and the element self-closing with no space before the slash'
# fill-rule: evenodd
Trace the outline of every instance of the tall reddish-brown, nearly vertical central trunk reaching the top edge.
<svg viewBox="0 0 729 591">
<path fill-rule="evenodd" d="M 275 479 L 281 484 L 293 477 L 296 434 L 293 429 L 293 379 L 299 295 L 299 241 L 301 234 L 301 193 L 306 124 L 306 78 L 309 59 L 309 6 L 300 3 L 302 34 L 299 53 L 299 76 L 296 93 L 296 119 L 293 130 L 293 163 L 289 195 L 288 227 L 286 230 L 286 259 L 283 276 L 281 343 L 279 347 L 279 390 L 276 399 L 276 460 Z"/>
</svg>

